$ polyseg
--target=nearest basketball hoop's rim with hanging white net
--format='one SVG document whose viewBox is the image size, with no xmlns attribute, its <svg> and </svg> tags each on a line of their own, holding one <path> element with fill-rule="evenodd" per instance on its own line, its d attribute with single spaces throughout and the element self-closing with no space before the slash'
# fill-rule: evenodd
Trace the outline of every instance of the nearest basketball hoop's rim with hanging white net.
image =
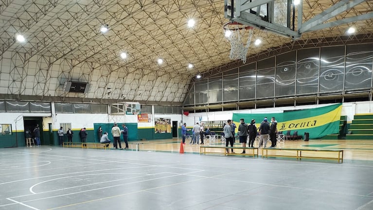
<svg viewBox="0 0 373 210">
<path fill-rule="evenodd" d="M 238 22 L 227 22 L 224 24 L 223 30 L 224 36 L 231 43 L 229 58 L 233 60 L 241 59 L 243 63 L 246 63 L 246 56 L 248 55 L 254 28 Z M 246 37 L 248 38 L 246 39 Z"/>
</svg>

